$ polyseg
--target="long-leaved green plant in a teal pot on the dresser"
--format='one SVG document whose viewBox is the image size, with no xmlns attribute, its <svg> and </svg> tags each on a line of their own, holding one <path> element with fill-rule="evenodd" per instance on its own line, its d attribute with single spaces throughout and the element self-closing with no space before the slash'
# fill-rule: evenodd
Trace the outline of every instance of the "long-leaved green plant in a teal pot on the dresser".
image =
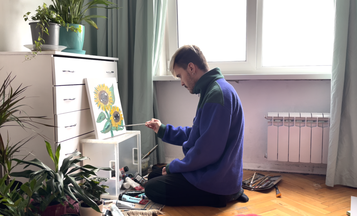
<svg viewBox="0 0 357 216">
<path fill-rule="evenodd" d="M 51 11 L 58 14 L 66 23 L 60 27 L 59 45 L 66 46 L 63 52 L 85 54 L 83 49 L 84 43 L 84 26 L 82 21 L 98 29 L 97 24 L 92 18 L 107 18 L 99 15 L 85 15 L 88 9 L 101 7 L 105 9 L 119 9 L 116 5 L 106 0 L 92 0 L 84 5 L 84 0 L 52 0 L 53 5 L 49 6 Z M 103 6 L 98 6 L 103 5 Z M 72 31 L 68 31 L 68 30 Z"/>
</svg>

